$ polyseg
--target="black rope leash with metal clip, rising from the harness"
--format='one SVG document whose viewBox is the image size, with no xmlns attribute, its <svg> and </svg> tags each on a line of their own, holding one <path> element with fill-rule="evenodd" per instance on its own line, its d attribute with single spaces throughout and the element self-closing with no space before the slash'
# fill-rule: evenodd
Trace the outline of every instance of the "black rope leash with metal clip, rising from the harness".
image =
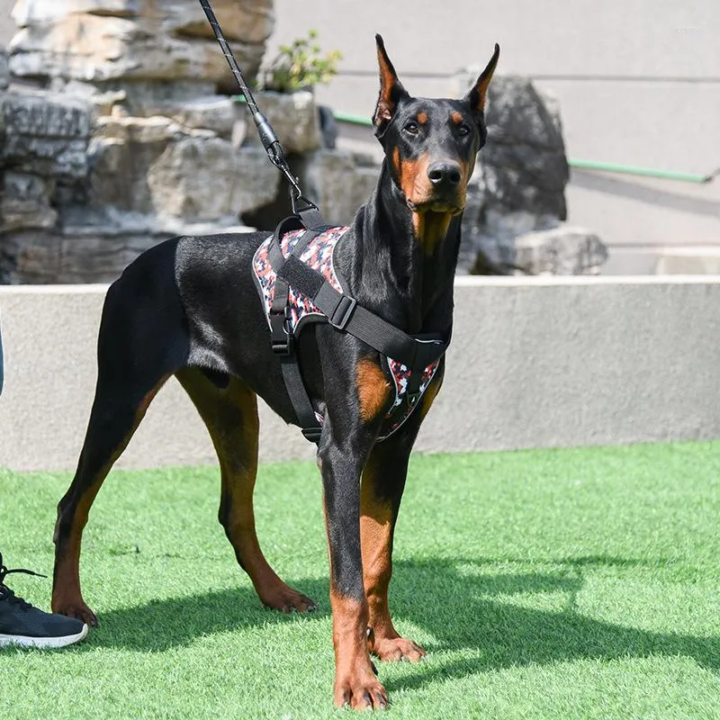
<svg viewBox="0 0 720 720">
<path fill-rule="evenodd" d="M 288 165 L 287 158 L 285 157 L 285 151 L 283 146 L 280 144 L 280 140 L 277 139 L 277 135 L 275 135 L 275 130 L 273 130 L 266 116 L 257 107 L 255 98 L 250 92 L 250 88 L 247 86 L 247 82 L 240 70 L 238 61 L 232 54 L 232 49 L 230 49 L 228 40 L 225 40 L 225 36 L 222 34 L 220 23 L 218 23 L 218 19 L 212 12 L 210 0 L 200 0 L 200 6 L 208 19 L 208 23 L 210 23 L 212 31 L 215 33 L 215 38 L 218 40 L 222 54 L 228 61 L 230 70 L 238 82 L 240 92 L 245 97 L 247 107 L 252 114 L 253 122 L 255 122 L 255 126 L 257 127 L 257 134 L 260 136 L 260 142 L 263 143 L 267 157 L 270 158 L 270 162 L 283 173 L 283 175 L 287 178 L 288 183 L 290 183 L 290 202 L 293 205 L 293 213 L 295 215 L 299 215 L 302 211 L 319 211 L 318 206 L 302 194 L 300 182 L 298 181 L 298 178 L 293 175 L 293 172 Z M 299 202 L 303 203 L 302 207 L 299 207 Z"/>
</svg>

